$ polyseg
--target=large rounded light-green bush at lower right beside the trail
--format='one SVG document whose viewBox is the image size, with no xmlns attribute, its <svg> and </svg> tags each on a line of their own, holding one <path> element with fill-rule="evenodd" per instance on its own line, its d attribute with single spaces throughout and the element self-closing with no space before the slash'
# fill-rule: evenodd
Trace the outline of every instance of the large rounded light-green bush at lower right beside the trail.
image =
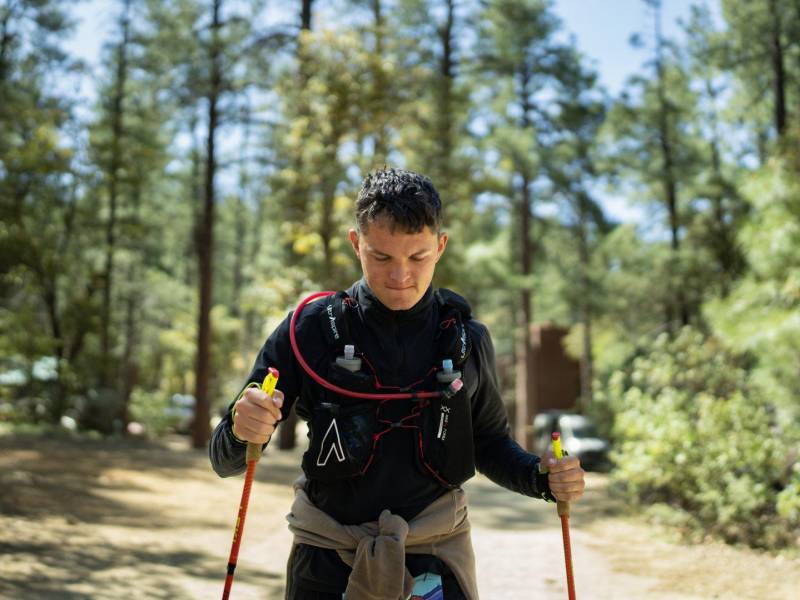
<svg viewBox="0 0 800 600">
<path fill-rule="evenodd" d="M 641 350 L 601 396 L 616 415 L 616 483 L 638 503 L 672 507 L 691 533 L 792 543 L 800 520 L 788 450 L 798 440 L 776 422 L 747 361 L 691 328 Z"/>
</svg>

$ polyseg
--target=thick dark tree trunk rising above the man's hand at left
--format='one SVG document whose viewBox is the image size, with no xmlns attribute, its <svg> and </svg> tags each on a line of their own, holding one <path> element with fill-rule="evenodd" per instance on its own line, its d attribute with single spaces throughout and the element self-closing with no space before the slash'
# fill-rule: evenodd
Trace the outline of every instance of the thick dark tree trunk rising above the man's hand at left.
<svg viewBox="0 0 800 600">
<path fill-rule="evenodd" d="M 200 311 L 197 328 L 197 372 L 195 379 L 197 388 L 194 423 L 192 424 L 192 443 L 195 448 L 204 448 L 211 437 L 209 426 L 209 368 L 211 351 L 211 302 L 213 289 L 214 259 L 214 175 L 216 173 L 215 137 L 217 132 L 217 103 L 222 90 L 222 72 L 220 68 L 220 5 L 222 0 L 214 0 L 211 22 L 211 44 L 209 46 L 209 63 L 211 77 L 208 88 L 208 137 L 206 140 L 206 172 L 205 195 L 203 199 L 203 215 L 200 223 L 198 267 L 200 270 Z"/>
</svg>

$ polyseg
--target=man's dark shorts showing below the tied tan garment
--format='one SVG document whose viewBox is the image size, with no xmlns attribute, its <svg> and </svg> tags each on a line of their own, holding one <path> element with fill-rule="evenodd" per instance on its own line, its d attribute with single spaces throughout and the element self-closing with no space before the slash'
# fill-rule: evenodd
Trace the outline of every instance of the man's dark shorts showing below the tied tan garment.
<svg viewBox="0 0 800 600">
<path fill-rule="evenodd" d="M 466 600 L 453 572 L 436 557 L 407 554 L 406 567 L 415 577 L 440 575 L 445 600 Z M 350 567 L 335 550 L 298 544 L 286 565 L 286 600 L 342 600 L 349 576 Z"/>
</svg>

